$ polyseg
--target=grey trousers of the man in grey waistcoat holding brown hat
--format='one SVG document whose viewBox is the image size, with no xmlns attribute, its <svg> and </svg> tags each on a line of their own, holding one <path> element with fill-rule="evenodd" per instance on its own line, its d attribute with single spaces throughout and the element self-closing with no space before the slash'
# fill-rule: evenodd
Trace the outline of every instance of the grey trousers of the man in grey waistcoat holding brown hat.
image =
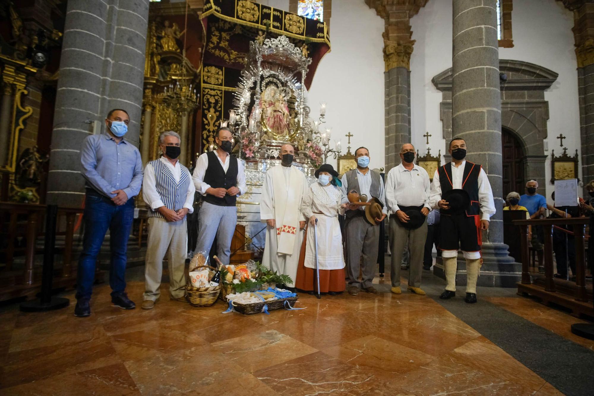
<svg viewBox="0 0 594 396">
<path fill-rule="evenodd" d="M 346 267 L 349 286 L 366 288 L 372 286 L 377 265 L 377 251 L 380 243 L 380 227 L 372 226 L 363 216 L 346 220 Z M 359 282 L 359 259 L 363 255 L 361 282 Z M 392 255 L 394 256 L 394 255 Z M 400 253 L 402 257 L 402 252 Z"/>
</svg>

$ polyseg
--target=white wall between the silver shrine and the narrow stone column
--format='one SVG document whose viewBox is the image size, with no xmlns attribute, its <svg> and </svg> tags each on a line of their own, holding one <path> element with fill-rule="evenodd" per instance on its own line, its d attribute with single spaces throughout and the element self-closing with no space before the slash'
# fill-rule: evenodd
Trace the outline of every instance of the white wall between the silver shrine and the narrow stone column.
<svg viewBox="0 0 594 396">
<path fill-rule="evenodd" d="M 347 132 L 354 136 L 352 152 L 369 149 L 369 166 L 384 166 L 384 21 L 362 0 L 332 3 L 331 52 L 315 72 L 308 102 L 312 115 L 327 102 L 326 126 L 331 139 L 346 151 Z M 334 148 L 334 142 L 332 142 Z M 336 160 L 328 159 L 336 166 Z"/>
</svg>

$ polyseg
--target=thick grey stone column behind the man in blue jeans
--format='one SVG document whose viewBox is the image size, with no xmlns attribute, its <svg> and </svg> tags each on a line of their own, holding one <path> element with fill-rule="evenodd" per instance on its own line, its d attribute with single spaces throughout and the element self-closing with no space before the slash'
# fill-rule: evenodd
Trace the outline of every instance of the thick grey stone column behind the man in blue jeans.
<svg viewBox="0 0 594 396">
<path fill-rule="evenodd" d="M 80 207 L 80 148 L 90 122 L 113 108 L 130 116 L 126 139 L 139 144 L 149 0 L 68 2 L 56 95 L 48 204 Z"/>
</svg>

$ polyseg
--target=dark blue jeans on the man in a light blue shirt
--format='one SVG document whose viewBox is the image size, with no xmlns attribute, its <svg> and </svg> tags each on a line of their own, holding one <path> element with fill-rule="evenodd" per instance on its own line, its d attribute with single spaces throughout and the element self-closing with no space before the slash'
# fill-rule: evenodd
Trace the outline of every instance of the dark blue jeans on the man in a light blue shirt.
<svg viewBox="0 0 594 396">
<path fill-rule="evenodd" d="M 90 299 L 95 281 L 97 255 L 109 229 L 109 286 L 112 297 L 119 296 L 126 289 L 124 279 L 127 262 L 128 237 L 134 219 L 134 199 L 117 206 L 103 195 L 87 189 L 84 204 L 83 252 L 78 259 L 77 299 Z"/>
</svg>

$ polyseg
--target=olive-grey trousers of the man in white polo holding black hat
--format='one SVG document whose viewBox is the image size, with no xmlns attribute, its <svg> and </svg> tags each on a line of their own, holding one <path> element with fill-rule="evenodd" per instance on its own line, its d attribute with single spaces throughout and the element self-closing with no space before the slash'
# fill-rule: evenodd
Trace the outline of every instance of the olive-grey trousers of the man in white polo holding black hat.
<svg viewBox="0 0 594 396">
<path fill-rule="evenodd" d="M 400 220 L 390 217 L 390 251 L 392 286 L 400 286 L 400 262 L 402 253 L 408 248 L 410 255 L 409 286 L 421 287 L 425 241 L 427 239 L 427 222 L 415 230 L 405 228 Z"/>
</svg>

